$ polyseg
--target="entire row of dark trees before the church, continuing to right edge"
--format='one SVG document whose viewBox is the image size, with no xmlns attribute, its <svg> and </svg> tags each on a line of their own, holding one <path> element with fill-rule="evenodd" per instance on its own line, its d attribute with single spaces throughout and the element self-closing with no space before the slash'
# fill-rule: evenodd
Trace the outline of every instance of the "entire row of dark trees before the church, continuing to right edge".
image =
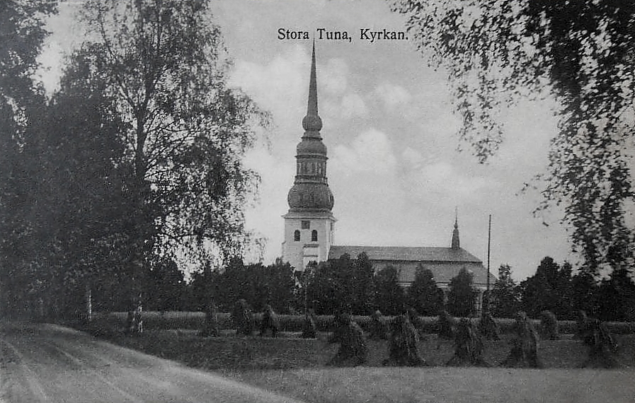
<svg viewBox="0 0 635 403">
<path fill-rule="evenodd" d="M 424 316 L 439 315 L 442 310 L 458 317 L 476 314 L 477 291 L 469 271 L 459 271 L 444 292 L 432 271 L 420 265 L 411 286 L 404 288 L 394 267 L 374 272 L 365 254 L 356 259 L 344 255 L 304 273 L 294 271 L 280 259 L 268 266 L 232 259 L 223 270 L 207 265 L 193 273 L 190 281 L 185 281 L 176 262 L 166 259 L 145 271 L 140 283 L 147 310 L 204 311 L 213 301 L 219 310 L 230 312 L 237 300 L 244 299 L 253 310 L 270 305 L 275 312 L 287 314 L 302 313 L 307 308 L 319 315 L 339 310 L 354 315 L 370 315 L 374 310 L 398 315 L 408 308 Z M 65 290 L 55 301 L 66 304 L 67 312 L 83 314 L 82 289 L 68 285 Z M 96 284 L 94 308 L 128 310 L 127 293 L 127 288 L 115 281 Z M 487 299 L 485 294 L 484 304 Z M 626 272 L 614 272 L 599 282 L 588 274 L 572 275 L 571 264 L 557 264 L 551 257 L 542 259 L 534 276 L 517 284 L 509 265 L 503 264 L 489 294 L 489 312 L 494 317 L 512 318 L 519 310 L 533 318 L 549 310 L 561 320 L 575 320 L 578 310 L 585 310 L 601 320 L 633 321 L 635 285 Z M 43 312 L 47 313 L 64 312 L 60 306 L 50 305 Z"/>
</svg>

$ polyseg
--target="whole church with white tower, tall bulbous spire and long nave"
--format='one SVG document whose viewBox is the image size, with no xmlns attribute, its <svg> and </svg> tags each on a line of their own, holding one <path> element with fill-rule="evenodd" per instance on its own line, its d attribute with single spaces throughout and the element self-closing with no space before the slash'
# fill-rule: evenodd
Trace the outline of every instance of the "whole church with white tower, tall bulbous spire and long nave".
<svg viewBox="0 0 635 403">
<path fill-rule="evenodd" d="M 487 286 L 487 270 L 480 259 L 462 249 L 459 241 L 458 219 L 454 218 L 450 247 L 349 246 L 335 244 L 333 194 L 326 177 L 326 146 L 320 130 L 322 119 L 318 115 L 315 47 L 311 54 L 309 100 L 307 115 L 302 119 L 304 135 L 296 148 L 296 175 L 287 195 L 289 211 L 285 220 L 285 240 L 282 242 L 282 260 L 298 271 L 310 262 L 324 262 L 348 254 L 356 258 L 365 252 L 374 271 L 392 266 L 399 272 L 399 283 L 412 284 L 420 265 L 433 272 L 437 285 L 447 291 L 452 277 L 463 268 L 474 275 L 474 288 L 479 290 L 477 309 L 480 310 L 483 292 Z M 490 281 L 496 278 L 490 275 Z"/>
</svg>

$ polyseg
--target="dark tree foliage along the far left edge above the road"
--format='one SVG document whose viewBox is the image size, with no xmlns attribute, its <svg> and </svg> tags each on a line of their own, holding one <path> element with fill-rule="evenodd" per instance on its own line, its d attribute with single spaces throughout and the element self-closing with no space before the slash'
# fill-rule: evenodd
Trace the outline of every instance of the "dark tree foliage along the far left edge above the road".
<svg viewBox="0 0 635 403">
<path fill-rule="evenodd" d="M 57 1 L 0 4 L 0 303 L 15 313 L 35 307 L 50 281 L 37 275 L 47 262 L 32 236 L 38 219 L 30 206 L 36 165 L 24 141 L 45 107 L 42 86 L 32 76 L 47 35 L 45 17 L 55 11 Z"/>
</svg>

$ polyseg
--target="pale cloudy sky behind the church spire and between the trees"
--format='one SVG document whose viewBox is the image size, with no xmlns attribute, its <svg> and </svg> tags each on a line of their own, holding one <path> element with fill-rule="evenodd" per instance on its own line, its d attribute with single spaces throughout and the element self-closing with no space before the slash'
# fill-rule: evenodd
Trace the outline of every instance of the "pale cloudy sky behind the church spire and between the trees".
<svg viewBox="0 0 635 403">
<path fill-rule="evenodd" d="M 78 1 L 50 21 L 42 79 L 55 87 L 56 67 L 81 41 L 69 23 Z M 307 110 L 311 39 L 279 39 L 278 31 L 318 28 L 352 40 L 316 37 L 319 115 L 328 148 L 328 183 L 335 198 L 336 245 L 450 246 L 455 209 L 461 246 L 486 264 L 491 215 L 491 270 L 510 264 L 515 279 L 534 274 L 540 260 L 576 262 L 561 212 L 534 217 L 537 192 L 520 194 L 547 168 L 556 134 L 553 101 L 500 111 L 505 141 L 487 164 L 459 142 L 443 71 L 428 67 L 408 40 L 371 43 L 360 30 L 405 30 L 404 17 L 384 0 L 218 0 L 215 21 L 234 59 L 229 84 L 241 88 L 274 127 L 248 153 L 261 175 L 258 202 L 246 225 L 265 238 L 265 263 L 281 255 L 282 215 L 295 173 L 295 146 Z M 458 151 L 458 147 L 463 151 Z"/>
</svg>

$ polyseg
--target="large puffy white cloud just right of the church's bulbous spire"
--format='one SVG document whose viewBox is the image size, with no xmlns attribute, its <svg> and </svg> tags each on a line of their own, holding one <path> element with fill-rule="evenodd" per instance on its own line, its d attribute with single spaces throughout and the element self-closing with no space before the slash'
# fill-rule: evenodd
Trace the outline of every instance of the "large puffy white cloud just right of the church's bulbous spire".
<svg viewBox="0 0 635 403">
<path fill-rule="evenodd" d="M 333 154 L 334 170 L 389 174 L 396 166 L 388 136 L 377 129 L 362 132 L 350 146 L 336 146 Z"/>
</svg>

